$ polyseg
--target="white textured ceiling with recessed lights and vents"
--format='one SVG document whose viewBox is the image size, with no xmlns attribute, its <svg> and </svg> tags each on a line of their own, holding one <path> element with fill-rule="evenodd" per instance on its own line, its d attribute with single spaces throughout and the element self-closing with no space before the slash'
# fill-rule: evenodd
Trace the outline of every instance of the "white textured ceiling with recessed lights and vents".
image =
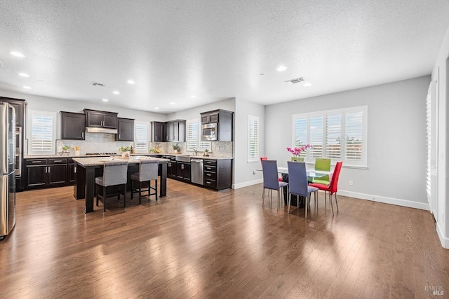
<svg viewBox="0 0 449 299">
<path fill-rule="evenodd" d="M 424 76 L 449 27 L 448 0 L 1 0 L 0 11 L 0 89 L 162 113 Z M 312 85 L 284 83 L 300 76 Z"/>
</svg>

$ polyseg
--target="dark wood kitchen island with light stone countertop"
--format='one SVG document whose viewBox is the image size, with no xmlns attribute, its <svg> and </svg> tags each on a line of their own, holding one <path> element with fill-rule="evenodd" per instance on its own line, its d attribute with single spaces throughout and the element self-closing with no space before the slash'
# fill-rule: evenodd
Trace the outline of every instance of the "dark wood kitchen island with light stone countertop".
<svg viewBox="0 0 449 299">
<path fill-rule="evenodd" d="M 92 158 L 73 158 L 74 160 L 74 197 L 76 200 L 85 200 L 84 213 L 93 212 L 93 197 L 95 195 L 95 177 L 102 175 L 105 161 L 127 160 L 128 161 L 128 185 L 130 186 L 129 176 L 138 172 L 138 165 L 142 159 L 157 160 L 159 163 L 159 176 L 161 176 L 159 185 L 159 195 L 167 195 L 167 159 L 152 158 L 145 156 L 132 156 L 130 158 L 121 157 L 92 157 Z"/>
</svg>

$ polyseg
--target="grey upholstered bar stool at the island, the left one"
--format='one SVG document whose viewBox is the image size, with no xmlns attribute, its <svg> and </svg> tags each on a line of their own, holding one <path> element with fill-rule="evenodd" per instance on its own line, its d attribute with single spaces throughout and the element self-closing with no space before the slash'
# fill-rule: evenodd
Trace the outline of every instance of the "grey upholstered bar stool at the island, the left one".
<svg viewBox="0 0 449 299">
<path fill-rule="evenodd" d="M 103 211 L 106 211 L 106 187 L 123 185 L 123 206 L 126 207 L 126 183 L 128 173 L 128 161 L 106 161 L 103 167 L 103 176 L 95 178 L 95 187 L 97 188 L 97 207 L 98 197 L 102 197 Z M 102 186 L 102 196 L 99 195 L 99 188 Z M 120 190 L 117 190 L 117 198 L 120 200 Z"/>
</svg>

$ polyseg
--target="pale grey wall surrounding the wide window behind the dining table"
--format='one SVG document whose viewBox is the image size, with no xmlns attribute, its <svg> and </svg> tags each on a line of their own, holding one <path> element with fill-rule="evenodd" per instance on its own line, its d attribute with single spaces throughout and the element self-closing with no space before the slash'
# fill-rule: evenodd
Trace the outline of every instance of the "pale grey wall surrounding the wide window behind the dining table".
<svg viewBox="0 0 449 299">
<path fill-rule="evenodd" d="M 368 106 L 368 169 L 344 167 L 339 193 L 429 209 L 426 105 L 430 76 L 267 106 L 266 155 L 286 166 L 295 113 Z M 354 186 L 349 186 L 349 180 Z"/>
</svg>

